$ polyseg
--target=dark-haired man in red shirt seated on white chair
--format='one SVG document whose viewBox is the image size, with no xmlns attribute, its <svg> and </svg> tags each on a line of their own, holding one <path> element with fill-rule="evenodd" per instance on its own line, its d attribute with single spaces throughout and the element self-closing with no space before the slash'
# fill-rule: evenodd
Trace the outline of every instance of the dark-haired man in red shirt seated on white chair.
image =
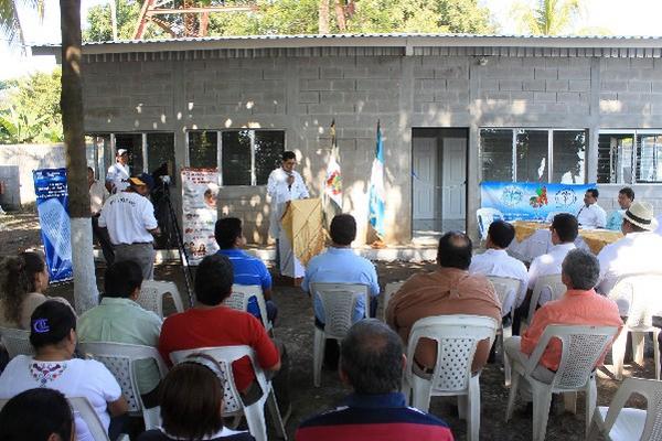
<svg viewBox="0 0 662 441">
<path fill-rule="evenodd" d="M 175 351 L 233 345 L 253 347 L 257 363 L 267 375 L 275 375 L 274 389 L 280 413 L 287 419 L 290 402 L 285 347 L 269 340 L 261 323 L 253 315 L 223 305 L 223 300 L 232 293 L 233 280 L 232 263 L 227 257 L 212 255 L 202 259 L 195 272 L 196 303 L 190 310 L 166 319 L 159 337 L 159 352 L 170 363 L 170 353 Z M 255 381 L 248 357 L 235 362 L 233 373 L 244 404 L 248 406 L 257 401 L 263 391 Z"/>
</svg>

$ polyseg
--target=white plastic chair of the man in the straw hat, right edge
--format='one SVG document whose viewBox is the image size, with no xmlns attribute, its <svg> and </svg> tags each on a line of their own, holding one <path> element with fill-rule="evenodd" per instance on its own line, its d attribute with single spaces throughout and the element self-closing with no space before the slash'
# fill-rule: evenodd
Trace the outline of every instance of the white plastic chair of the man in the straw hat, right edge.
<svg viewBox="0 0 662 441">
<path fill-rule="evenodd" d="M 660 329 L 653 326 L 653 314 L 660 305 L 660 287 L 662 275 L 633 275 L 619 280 L 609 292 L 609 298 L 617 303 L 624 302 L 628 308 L 628 319 L 621 333 L 611 346 L 613 374 L 617 379 L 623 377 L 623 358 L 628 333 L 632 333 L 632 357 L 634 363 L 643 365 L 643 338 L 648 333 L 653 334 L 653 355 L 655 362 L 655 379 L 660 379 L 660 345 L 658 336 Z"/>
</svg>

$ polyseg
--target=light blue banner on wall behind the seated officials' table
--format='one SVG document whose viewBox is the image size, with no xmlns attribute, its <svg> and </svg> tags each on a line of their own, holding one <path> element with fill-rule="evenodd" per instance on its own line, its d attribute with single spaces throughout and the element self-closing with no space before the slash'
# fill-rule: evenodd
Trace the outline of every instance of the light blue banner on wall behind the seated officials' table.
<svg viewBox="0 0 662 441">
<path fill-rule="evenodd" d="M 584 194 L 596 184 L 482 182 L 481 207 L 496 208 L 505 220 L 548 220 L 556 213 L 577 214 Z"/>
</svg>

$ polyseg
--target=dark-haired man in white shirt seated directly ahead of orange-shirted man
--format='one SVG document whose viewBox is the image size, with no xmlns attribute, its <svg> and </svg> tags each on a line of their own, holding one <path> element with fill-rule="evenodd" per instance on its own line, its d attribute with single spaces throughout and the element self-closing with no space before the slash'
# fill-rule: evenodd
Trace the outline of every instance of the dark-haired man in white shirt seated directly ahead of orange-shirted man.
<svg viewBox="0 0 662 441">
<path fill-rule="evenodd" d="M 542 255 L 533 259 L 528 268 L 528 290 L 526 298 L 522 304 L 515 310 L 513 318 L 513 335 L 520 335 L 520 326 L 522 319 L 528 315 L 531 306 L 531 297 L 535 282 L 542 276 L 560 275 L 560 265 L 568 251 L 575 249 L 575 239 L 579 234 L 577 218 L 568 213 L 559 213 L 554 216 L 554 220 L 549 226 L 552 232 L 552 248 L 546 255 Z M 552 293 L 548 291 L 541 292 L 538 304 L 545 304 L 549 301 Z M 536 305 L 537 308 L 537 305 Z"/>
</svg>

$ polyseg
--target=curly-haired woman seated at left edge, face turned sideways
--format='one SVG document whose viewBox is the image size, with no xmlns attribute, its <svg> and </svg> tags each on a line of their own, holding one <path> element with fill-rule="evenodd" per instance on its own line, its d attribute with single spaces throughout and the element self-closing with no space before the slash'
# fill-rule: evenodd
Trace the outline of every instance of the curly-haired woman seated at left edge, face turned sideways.
<svg viewBox="0 0 662 441">
<path fill-rule="evenodd" d="M 49 299 L 70 305 L 61 297 L 44 295 L 47 288 L 49 270 L 41 255 L 25 251 L 0 261 L 0 326 L 29 330 L 32 312 Z"/>
</svg>

